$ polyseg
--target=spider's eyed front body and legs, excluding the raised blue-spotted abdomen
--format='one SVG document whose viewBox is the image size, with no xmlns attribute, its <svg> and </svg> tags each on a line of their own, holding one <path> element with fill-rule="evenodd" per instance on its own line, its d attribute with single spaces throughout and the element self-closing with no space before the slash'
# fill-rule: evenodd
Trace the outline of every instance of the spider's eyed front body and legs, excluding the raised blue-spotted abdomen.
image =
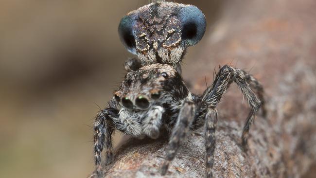
<svg viewBox="0 0 316 178">
<path fill-rule="evenodd" d="M 147 65 L 127 73 L 108 107 L 100 111 L 94 121 L 95 175 L 102 177 L 104 174 L 102 151 L 105 151 L 105 164 L 112 160 L 111 137 L 114 130 L 137 138 L 148 136 L 154 139 L 158 138 L 162 129 L 169 130 L 169 151 L 161 169 L 164 175 L 186 134 L 204 127 L 206 170 L 207 176 L 211 177 L 217 123 L 215 107 L 232 82 L 239 86 L 250 107 L 242 134 L 242 143 L 246 145 L 250 126 L 263 104 L 260 101 L 263 99 L 263 88 L 245 71 L 222 67 L 213 84 L 202 95 L 190 93 L 180 74 L 167 64 Z"/>
</svg>

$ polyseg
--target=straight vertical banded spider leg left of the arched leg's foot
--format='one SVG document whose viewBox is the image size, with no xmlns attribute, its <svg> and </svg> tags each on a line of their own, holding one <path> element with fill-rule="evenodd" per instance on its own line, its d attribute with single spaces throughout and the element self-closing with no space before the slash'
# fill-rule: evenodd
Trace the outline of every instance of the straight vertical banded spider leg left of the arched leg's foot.
<svg viewBox="0 0 316 178">
<path fill-rule="evenodd" d="M 215 107 L 208 107 L 205 115 L 205 149 L 206 149 L 206 175 L 212 178 L 215 150 L 215 129 L 217 125 L 217 110 Z"/>
</svg>

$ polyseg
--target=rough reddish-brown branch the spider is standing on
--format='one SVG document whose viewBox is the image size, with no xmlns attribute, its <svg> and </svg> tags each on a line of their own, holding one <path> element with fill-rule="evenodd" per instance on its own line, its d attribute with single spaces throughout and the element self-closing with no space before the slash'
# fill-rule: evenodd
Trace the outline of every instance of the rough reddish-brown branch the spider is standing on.
<svg viewBox="0 0 316 178">
<path fill-rule="evenodd" d="M 186 59 L 183 71 L 188 66 L 192 70 L 184 78 L 192 81 L 195 92 L 206 88 L 204 76 L 211 82 L 214 66 L 233 59 L 233 66 L 252 68 L 266 92 L 267 117 L 256 118 L 247 152 L 240 147 L 246 102 L 237 87 L 226 94 L 218 108 L 215 177 L 308 177 L 315 166 L 315 9 L 314 0 L 229 1 L 199 56 Z M 107 176 L 160 177 L 167 140 L 126 142 Z M 202 136 L 190 134 L 166 177 L 203 177 L 203 144 Z"/>
</svg>

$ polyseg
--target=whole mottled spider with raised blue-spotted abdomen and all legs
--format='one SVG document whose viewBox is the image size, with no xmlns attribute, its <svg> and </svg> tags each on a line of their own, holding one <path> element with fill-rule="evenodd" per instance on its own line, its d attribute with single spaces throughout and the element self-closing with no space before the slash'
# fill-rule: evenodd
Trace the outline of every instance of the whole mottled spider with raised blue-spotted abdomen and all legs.
<svg viewBox="0 0 316 178">
<path fill-rule="evenodd" d="M 202 38 L 205 28 L 205 17 L 197 7 L 159 0 L 122 18 L 120 37 L 127 50 L 138 58 L 125 62 L 128 73 L 108 107 L 95 118 L 96 171 L 90 177 L 105 176 L 101 153 L 105 152 L 105 166 L 110 164 L 115 130 L 140 139 L 157 139 L 160 132 L 167 130 L 171 136 L 161 167 L 161 175 L 165 175 L 186 135 L 201 127 L 205 136 L 206 176 L 212 177 L 216 107 L 232 82 L 241 89 L 250 107 L 242 134 L 242 145 L 246 147 L 255 114 L 264 104 L 261 84 L 252 75 L 230 66 L 223 66 L 216 73 L 213 84 L 202 95 L 191 93 L 182 80 L 183 55 L 187 47 Z"/>
</svg>

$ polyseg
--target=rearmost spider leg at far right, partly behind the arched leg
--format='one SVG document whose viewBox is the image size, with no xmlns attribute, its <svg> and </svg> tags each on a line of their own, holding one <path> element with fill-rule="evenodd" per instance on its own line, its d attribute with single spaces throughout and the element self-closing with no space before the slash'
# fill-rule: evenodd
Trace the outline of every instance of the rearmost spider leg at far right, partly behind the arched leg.
<svg viewBox="0 0 316 178">
<path fill-rule="evenodd" d="M 263 115 L 263 117 L 265 117 L 266 116 L 266 109 L 265 109 L 265 105 L 264 105 L 265 104 L 265 100 L 264 100 L 264 96 L 263 96 L 263 94 L 264 94 L 263 86 L 251 74 L 248 74 L 245 71 L 243 71 L 243 72 L 244 72 L 244 74 L 246 76 L 246 81 L 250 85 L 251 89 L 253 89 L 257 93 L 257 96 L 258 96 L 258 98 L 261 101 L 262 115 Z"/>
</svg>

